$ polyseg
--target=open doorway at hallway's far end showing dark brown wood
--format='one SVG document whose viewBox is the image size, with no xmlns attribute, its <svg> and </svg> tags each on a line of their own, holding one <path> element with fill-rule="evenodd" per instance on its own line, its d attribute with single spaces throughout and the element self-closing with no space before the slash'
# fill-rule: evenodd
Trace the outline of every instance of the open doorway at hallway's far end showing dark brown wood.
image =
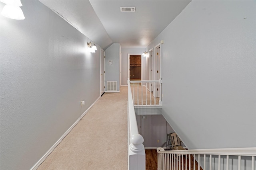
<svg viewBox="0 0 256 170">
<path fill-rule="evenodd" d="M 141 80 L 141 55 L 130 55 L 130 80 Z"/>
</svg>

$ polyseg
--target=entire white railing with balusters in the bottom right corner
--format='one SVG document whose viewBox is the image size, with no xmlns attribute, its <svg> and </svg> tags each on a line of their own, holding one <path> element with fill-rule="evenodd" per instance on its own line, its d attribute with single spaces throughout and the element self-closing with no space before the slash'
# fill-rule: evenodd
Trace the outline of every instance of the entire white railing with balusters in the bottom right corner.
<svg viewBox="0 0 256 170">
<path fill-rule="evenodd" d="M 157 152 L 158 170 L 196 170 L 196 161 L 198 162 L 197 170 L 255 170 L 256 164 L 256 148 L 197 150 L 158 148 Z"/>
</svg>

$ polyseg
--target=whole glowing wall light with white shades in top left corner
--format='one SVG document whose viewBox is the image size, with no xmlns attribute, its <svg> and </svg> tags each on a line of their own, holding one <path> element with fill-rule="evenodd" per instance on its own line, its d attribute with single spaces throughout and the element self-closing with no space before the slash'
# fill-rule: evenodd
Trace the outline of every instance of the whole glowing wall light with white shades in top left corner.
<svg viewBox="0 0 256 170">
<path fill-rule="evenodd" d="M 1 2 L 5 3 L 1 14 L 2 16 L 5 16 L 7 18 L 11 18 L 14 20 L 24 20 L 24 14 L 22 10 L 20 9 L 20 6 L 22 6 L 20 0 L 1 0 Z"/>
</svg>

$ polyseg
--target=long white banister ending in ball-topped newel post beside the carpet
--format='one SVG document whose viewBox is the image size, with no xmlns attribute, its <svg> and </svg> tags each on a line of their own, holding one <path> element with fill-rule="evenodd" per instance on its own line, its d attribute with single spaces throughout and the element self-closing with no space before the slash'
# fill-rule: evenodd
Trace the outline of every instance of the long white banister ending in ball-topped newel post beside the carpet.
<svg viewBox="0 0 256 170">
<path fill-rule="evenodd" d="M 129 82 L 128 79 L 128 84 Z M 146 169 L 146 154 L 143 142 L 144 139 L 138 131 L 132 91 L 128 85 L 128 170 Z"/>
</svg>

